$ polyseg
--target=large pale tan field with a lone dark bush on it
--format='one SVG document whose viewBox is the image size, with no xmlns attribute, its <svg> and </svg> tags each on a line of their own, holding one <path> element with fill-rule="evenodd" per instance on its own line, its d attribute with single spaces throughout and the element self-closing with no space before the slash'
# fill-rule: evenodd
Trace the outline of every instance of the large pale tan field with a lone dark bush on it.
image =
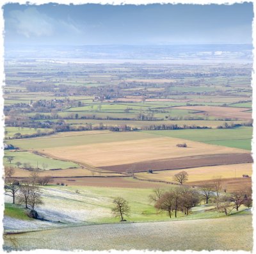
<svg viewBox="0 0 256 254">
<path fill-rule="evenodd" d="M 187 148 L 176 147 L 186 142 Z M 70 147 L 45 148 L 43 153 L 60 159 L 88 163 L 93 166 L 112 166 L 157 159 L 172 159 L 205 154 L 248 154 L 238 148 L 221 147 L 177 138 L 146 138 L 110 143 L 95 143 Z"/>
</svg>

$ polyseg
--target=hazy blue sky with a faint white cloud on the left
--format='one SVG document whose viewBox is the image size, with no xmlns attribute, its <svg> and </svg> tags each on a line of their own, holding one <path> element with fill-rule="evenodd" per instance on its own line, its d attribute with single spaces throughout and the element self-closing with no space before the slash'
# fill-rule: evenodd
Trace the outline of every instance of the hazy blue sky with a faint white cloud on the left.
<svg viewBox="0 0 256 254">
<path fill-rule="evenodd" d="M 253 4 L 4 7 L 6 44 L 251 44 Z"/>
</svg>

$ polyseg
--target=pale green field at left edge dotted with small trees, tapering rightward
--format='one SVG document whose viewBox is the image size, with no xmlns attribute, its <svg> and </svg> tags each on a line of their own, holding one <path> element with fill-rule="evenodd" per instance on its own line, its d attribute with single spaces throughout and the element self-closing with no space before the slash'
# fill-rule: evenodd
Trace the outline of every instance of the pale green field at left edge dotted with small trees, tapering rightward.
<svg viewBox="0 0 256 254">
<path fill-rule="evenodd" d="M 47 164 L 47 167 L 45 167 L 45 170 L 50 170 L 50 169 L 57 169 L 57 168 L 79 168 L 79 165 L 76 163 L 71 163 L 71 162 L 67 162 L 67 161 L 60 161 L 60 160 L 56 160 L 56 159 L 51 159 L 51 158 L 47 158 L 47 157 L 43 157 L 37 154 L 33 154 L 31 152 L 10 152 L 10 151 L 4 151 L 4 165 L 11 165 L 6 157 L 8 156 L 13 156 L 13 161 L 12 161 L 12 165 L 15 165 L 15 163 L 17 163 L 17 161 L 19 161 L 20 163 L 24 164 L 24 163 L 30 163 L 31 166 L 33 166 L 33 168 L 40 168 L 43 169 L 44 167 L 42 166 L 42 164 Z M 21 165 L 22 167 L 23 165 Z"/>
</svg>

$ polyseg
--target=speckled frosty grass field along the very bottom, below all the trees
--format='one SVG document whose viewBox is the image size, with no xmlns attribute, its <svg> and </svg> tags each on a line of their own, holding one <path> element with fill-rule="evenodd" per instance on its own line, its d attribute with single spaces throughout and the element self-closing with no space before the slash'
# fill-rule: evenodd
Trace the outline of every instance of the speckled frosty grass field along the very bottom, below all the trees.
<svg viewBox="0 0 256 254">
<path fill-rule="evenodd" d="M 243 234 L 237 225 L 243 225 Z M 252 215 L 245 212 L 228 218 L 116 223 L 5 235 L 3 248 L 7 251 L 41 248 L 98 251 L 113 249 L 252 251 L 252 236 Z M 181 239 L 184 241 L 180 241 Z"/>
</svg>

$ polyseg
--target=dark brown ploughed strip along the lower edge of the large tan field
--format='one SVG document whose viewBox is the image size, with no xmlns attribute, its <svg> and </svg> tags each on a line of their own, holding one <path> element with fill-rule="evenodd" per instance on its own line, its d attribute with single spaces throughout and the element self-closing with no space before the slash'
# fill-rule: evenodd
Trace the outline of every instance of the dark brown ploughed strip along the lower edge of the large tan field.
<svg viewBox="0 0 256 254">
<path fill-rule="evenodd" d="M 134 170 L 138 172 L 148 170 L 179 170 L 184 168 L 195 168 L 200 166 L 215 166 L 223 164 L 252 163 L 251 154 L 208 154 L 179 157 L 173 159 L 161 159 L 145 161 L 141 163 L 129 163 L 114 166 L 103 166 L 102 170 L 125 172 Z"/>
</svg>

